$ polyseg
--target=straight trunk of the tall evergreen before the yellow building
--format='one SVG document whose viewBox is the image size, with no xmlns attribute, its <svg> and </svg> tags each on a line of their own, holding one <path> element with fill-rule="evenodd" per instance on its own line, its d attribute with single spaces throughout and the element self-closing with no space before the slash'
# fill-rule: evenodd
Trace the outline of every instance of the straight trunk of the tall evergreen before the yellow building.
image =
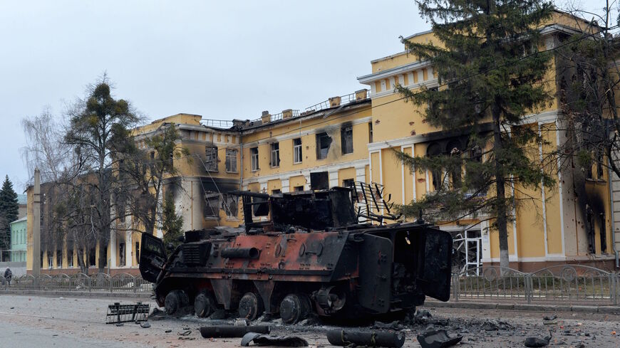
<svg viewBox="0 0 620 348">
<path fill-rule="evenodd" d="M 500 237 L 500 267 L 501 273 L 504 273 L 505 268 L 509 267 L 508 261 L 508 228 L 507 228 L 507 213 L 506 213 L 506 181 L 504 178 L 504 171 L 502 170 L 502 164 L 498 152 L 502 152 L 502 130 L 500 122 L 500 106 L 495 102 L 492 109 L 493 113 L 493 152 L 495 154 L 495 197 L 497 204 L 495 210 L 497 211 L 497 232 Z"/>
</svg>

